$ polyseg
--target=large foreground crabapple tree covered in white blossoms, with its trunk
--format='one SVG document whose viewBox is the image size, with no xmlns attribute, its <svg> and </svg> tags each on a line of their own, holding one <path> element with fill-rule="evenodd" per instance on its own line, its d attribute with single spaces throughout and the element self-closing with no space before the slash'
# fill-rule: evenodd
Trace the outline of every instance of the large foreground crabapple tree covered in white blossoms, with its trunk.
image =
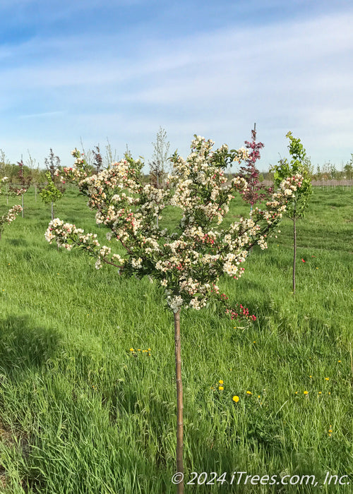
<svg viewBox="0 0 353 494">
<path fill-rule="evenodd" d="M 183 472 L 183 387 L 181 382 L 181 308 L 200 310 L 212 301 L 223 304 L 232 318 L 254 318 L 242 306 L 232 307 L 217 286 L 220 277 L 239 279 L 252 246 L 267 247 L 266 236 L 280 222 L 287 204 L 287 190 L 299 186 L 299 178 L 280 183 L 264 210 L 257 207 L 250 218 L 241 217 L 229 227 L 220 225 L 229 211 L 234 193 L 246 191 L 247 183 L 235 177 L 227 183 L 225 170 L 234 161 L 248 157 L 244 148 L 229 150 L 227 145 L 213 150 L 213 141 L 194 136 L 191 154 L 186 159 L 174 153 L 169 188 L 143 185 L 143 163 L 125 155 L 109 169 L 88 176 L 85 159 L 78 150 L 73 167 L 64 168 L 63 179 L 78 184 L 87 195 L 88 206 L 96 210 L 95 219 L 108 229 L 111 246 L 100 245 L 97 235 L 85 233 L 75 224 L 56 218 L 45 233 L 68 251 L 79 248 L 95 258 L 95 267 L 113 265 L 121 275 L 149 276 L 161 289 L 174 314 L 175 365 L 177 379 L 177 471 Z M 166 205 L 182 212 L 174 229 L 157 226 L 156 218 Z M 114 253 L 114 245 L 124 255 Z M 178 492 L 184 492 L 180 483 Z"/>
</svg>

